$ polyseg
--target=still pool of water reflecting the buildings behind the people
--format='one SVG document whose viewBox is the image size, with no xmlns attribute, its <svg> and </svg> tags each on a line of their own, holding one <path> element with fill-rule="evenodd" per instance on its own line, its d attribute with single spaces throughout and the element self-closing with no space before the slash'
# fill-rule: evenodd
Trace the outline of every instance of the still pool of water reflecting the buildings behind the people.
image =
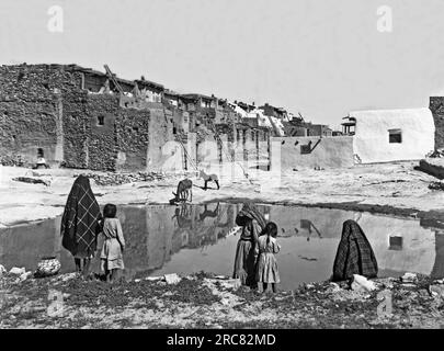
<svg viewBox="0 0 444 351">
<path fill-rule="evenodd" d="M 278 226 L 282 246 L 276 256 L 282 288 L 301 282 L 328 279 L 332 272 L 342 223 L 356 213 L 272 205 L 259 206 Z M 232 274 L 239 235 L 236 226 L 240 204 L 121 206 L 127 247 L 124 253 L 128 279 L 173 272 L 208 271 Z M 425 228 L 419 220 L 390 216 L 358 215 L 379 265 L 379 276 L 401 275 L 407 271 L 433 276 L 444 275 L 444 234 Z M 61 272 L 75 269 L 70 253 L 61 247 L 60 217 L 0 230 L 0 263 L 10 269 L 35 270 L 44 256 L 57 256 Z M 102 239 L 99 240 L 101 247 Z M 94 260 L 99 272 L 99 260 Z"/>
</svg>

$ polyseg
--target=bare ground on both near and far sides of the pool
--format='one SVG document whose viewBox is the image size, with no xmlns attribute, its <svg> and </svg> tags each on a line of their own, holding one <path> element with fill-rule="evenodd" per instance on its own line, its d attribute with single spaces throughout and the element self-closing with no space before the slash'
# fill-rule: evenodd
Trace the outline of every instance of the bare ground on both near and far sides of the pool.
<svg viewBox="0 0 444 351">
<path fill-rule="evenodd" d="M 193 188 L 193 203 L 250 200 L 368 211 L 413 216 L 441 227 L 444 192 L 429 189 L 436 179 L 415 170 L 415 166 L 418 162 L 295 170 L 272 177 L 257 171 L 249 179 L 238 173 L 220 177 L 218 191 L 204 191 L 198 188 L 203 180 L 189 177 L 197 185 Z M 60 215 L 75 176 L 86 171 L 33 172 L 0 168 L 0 227 Z M 18 182 L 13 180 L 16 177 L 42 179 L 50 184 Z M 100 204 L 166 204 L 183 177 L 106 186 L 92 181 L 92 189 Z M 172 285 L 161 280 L 106 284 L 83 281 L 73 274 L 16 282 L 16 278 L 3 274 L 0 328 L 442 328 L 444 325 L 443 285 L 433 285 L 439 286 L 439 293 L 432 294 L 432 282 L 426 276 L 414 284 L 376 280 L 378 290 L 371 293 L 322 282 L 267 295 L 235 288 L 229 282 L 208 272 L 183 278 Z M 382 291 L 389 291 L 390 316 L 377 313 Z M 54 296 L 62 301 L 61 309 L 54 305 L 54 298 L 57 299 Z"/>
</svg>

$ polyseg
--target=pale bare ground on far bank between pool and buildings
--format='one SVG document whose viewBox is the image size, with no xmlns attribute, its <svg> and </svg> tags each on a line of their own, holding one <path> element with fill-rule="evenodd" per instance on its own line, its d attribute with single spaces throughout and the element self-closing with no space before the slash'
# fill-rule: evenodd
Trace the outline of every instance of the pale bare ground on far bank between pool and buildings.
<svg viewBox="0 0 444 351">
<path fill-rule="evenodd" d="M 436 179 L 414 170 L 419 162 L 356 166 L 349 169 L 298 170 L 270 174 L 249 171 L 249 179 L 237 172 L 220 177 L 220 190 L 202 190 L 203 180 L 193 180 L 193 203 L 210 201 L 239 202 L 251 200 L 267 204 L 298 204 L 369 211 L 429 218 L 444 224 L 441 204 L 444 192 L 428 186 Z M 14 181 L 32 176 L 23 168 L 0 167 L 0 227 L 18 223 L 55 217 L 62 213 L 73 176 L 84 170 L 49 169 L 33 171 L 50 185 Z M 100 174 L 100 172 L 95 172 Z M 163 180 L 100 186 L 92 189 L 100 204 L 167 204 L 173 197 L 183 174 Z M 214 184 L 210 186 L 215 188 Z"/>
</svg>

